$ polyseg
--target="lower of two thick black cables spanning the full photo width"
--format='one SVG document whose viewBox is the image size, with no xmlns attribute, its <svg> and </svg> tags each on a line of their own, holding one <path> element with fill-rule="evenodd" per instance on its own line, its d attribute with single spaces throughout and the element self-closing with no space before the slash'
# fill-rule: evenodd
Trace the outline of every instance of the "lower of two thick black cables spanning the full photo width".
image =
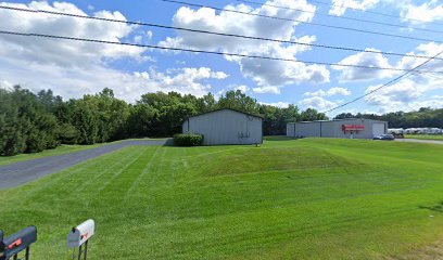
<svg viewBox="0 0 443 260">
<path fill-rule="evenodd" d="M 152 44 L 139 44 L 139 43 L 130 43 L 130 42 L 109 41 L 109 40 L 97 40 L 97 39 L 89 39 L 89 38 L 79 38 L 79 37 L 69 37 L 69 36 L 56 36 L 56 35 L 36 34 L 36 32 L 18 32 L 18 31 L 0 30 L 0 34 L 1 34 L 1 35 L 25 36 L 25 37 L 40 37 L 40 38 L 52 38 L 52 39 L 65 39 L 65 40 L 75 40 L 75 41 L 85 41 L 85 42 L 96 42 L 96 43 L 106 43 L 106 44 L 116 44 L 116 46 L 129 46 L 129 47 L 151 48 L 151 49 L 167 50 L 167 51 L 182 51 L 182 52 L 191 52 L 191 53 L 204 53 L 204 54 L 237 56 L 237 57 L 246 57 L 246 58 L 261 58 L 261 60 L 269 60 L 269 61 L 294 62 L 294 63 L 304 63 L 304 64 L 317 64 L 317 65 L 327 65 L 327 66 L 356 67 L 356 68 L 366 68 L 366 69 L 381 69 L 381 70 L 408 72 L 408 69 L 404 69 L 404 68 L 389 68 L 389 67 L 365 66 L 365 65 L 353 65 L 353 64 L 338 64 L 338 63 L 327 63 L 327 62 L 312 62 L 312 61 L 303 61 L 303 60 L 294 60 L 294 58 L 283 58 L 283 57 L 273 57 L 273 56 L 262 56 L 262 55 L 246 55 L 246 54 L 241 54 L 241 53 L 218 52 L 218 51 L 203 51 L 203 50 L 193 50 L 193 49 L 175 48 L 175 47 L 162 47 L 162 46 L 152 46 Z M 417 70 L 417 72 L 418 72 L 418 73 L 438 73 L 438 74 L 443 74 L 443 72 L 432 72 L 432 70 Z"/>
</svg>

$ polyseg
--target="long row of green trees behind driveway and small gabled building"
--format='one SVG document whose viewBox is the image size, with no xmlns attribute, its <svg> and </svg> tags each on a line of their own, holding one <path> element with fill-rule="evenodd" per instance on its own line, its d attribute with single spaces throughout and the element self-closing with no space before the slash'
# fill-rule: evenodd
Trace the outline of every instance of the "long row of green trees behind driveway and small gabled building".
<svg viewBox="0 0 443 260">
<path fill-rule="evenodd" d="M 94 144 L 127 138 L 172 136 L 186 118 L 219 108 L 233 108 L 264 118 L 264 134 L 286 134 L 288 121 L 327 119 L 296 106 L 280 108 L 257 103 L 241 91 L 218 100 L 177 92 L 147 93 L 135 104 L 116 99 L 111 89 L 64 101 L 51 90 L 33 93 L 18 86 L 0 89 L 0 155 L 36 153 L 60 144 Z"/>
</svg>

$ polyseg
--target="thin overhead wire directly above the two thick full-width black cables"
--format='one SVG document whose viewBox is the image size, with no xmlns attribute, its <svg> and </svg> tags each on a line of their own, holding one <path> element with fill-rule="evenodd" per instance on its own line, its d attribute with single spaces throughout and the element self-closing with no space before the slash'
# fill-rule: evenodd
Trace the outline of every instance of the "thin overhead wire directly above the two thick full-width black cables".
<svg viewBox="0 0 443 260">
<path fill-rule="evenodd" d="M 356 32 L 362 32 L 362 34 L 379 35 L 379 36 L 402 38 L 402 39 L 408 39 L 408 40 L 415 40 L 415 41 L 433 41 L 433 42 L 438 42 L 438 43 L 443 43 L 443 41 L 433 40 L 433 39 L 426 39 L 426 38 L 418 38 L 418 37 L 412 37 L 412 36 L 387 34 L 387 32 L 381 32 L 381 31 L 365 30 L 365 29 L 344 27 L 344 26 L 320 24 L 320 23 L 306 22 L 306 21 L 301 21 L 301 20 L 292 20 L 292 18 L 269 16 L 269 15 L 257 14 L 257 13 L 248 13 L 248 12 L 238 11 L 238 10 L 215 8 L 215 6 L 211 6 L 211 5 L 203 5 L 203 4 L 185 2 L 185 1 L 176 1 L 176 0 L 161 0 L 161 1 L 168 2 L 168 3 L 183 4 L 183 5 L 188 5 L 188 6 L 194 6 L 194 8 L 208 8 L 208 9 L 214 9 L 214 10 L 217 10 L 217 11 L 224 11 L 224 12 L 230 12 L 230 13 L 237 13 L 237 14 L 245 14 L 245 15 L 278 20 L 278 21 L 296 22 L 296 23 L 301 23 L 301 24 L 309 24 L 309 25 L 315 25 L 315 26 L 320 26 L 320 27 L 326 27 L 326 28 L 332 28 L 332 29 L 350 30 L 350 31 L 356 31 Z"/>
</svg>

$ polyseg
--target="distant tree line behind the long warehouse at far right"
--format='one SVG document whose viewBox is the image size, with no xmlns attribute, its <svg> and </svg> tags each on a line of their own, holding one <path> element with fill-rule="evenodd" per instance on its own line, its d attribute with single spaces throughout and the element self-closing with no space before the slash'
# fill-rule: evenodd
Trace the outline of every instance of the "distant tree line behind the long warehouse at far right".
<svg viewBox="0 0 443 260">
<path fill-rule="evenodd" d="M 384 115 L 343 113 L 336 119 L 368 118 L 388 121 L 390 128 L 443 128 L 443 108 L 421 107 L 416 112 L 394 112 Z"/>
</svg>

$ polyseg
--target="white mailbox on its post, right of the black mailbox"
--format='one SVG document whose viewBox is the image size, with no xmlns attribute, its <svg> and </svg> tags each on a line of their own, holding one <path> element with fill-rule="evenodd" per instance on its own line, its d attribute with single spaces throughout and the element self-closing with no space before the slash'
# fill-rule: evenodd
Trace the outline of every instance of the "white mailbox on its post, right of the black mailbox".
<svg viewBox="0 0 443 260">
<path fill-rule="evenodd" d="M 73 249 L 73 259 L 75 259 L 76 248 L 78 248 L 77 259 L 80 260 L 81 256 L 86 260 L 88 257 L 88 242 L 91 236 L 93 236 L 96 231 L 96 223 L 93 220 L 89 219 L 81 224 L 73 227 L 67 234 L 67 248 Z M 83 245 L 85 244 L 85 250 L 83 250 Z"/>
</svg>

